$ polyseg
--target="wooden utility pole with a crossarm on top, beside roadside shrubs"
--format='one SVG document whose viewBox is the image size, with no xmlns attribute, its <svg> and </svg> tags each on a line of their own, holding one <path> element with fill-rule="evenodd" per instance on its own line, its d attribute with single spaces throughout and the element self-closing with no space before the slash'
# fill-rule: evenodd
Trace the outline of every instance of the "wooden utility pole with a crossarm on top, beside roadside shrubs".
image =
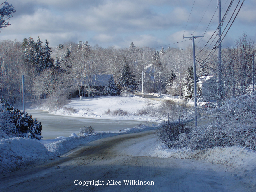
<svg viewBox="0 0 256 192">
<path fill-rule="evenodd" d="M 192 34 L 191 34 L 192 35 Z M 193 36 L 192 37 L 184 37 L 192 39 L 192 49 L 193 49 L 193 66 L 194 66 L 194 107 L 195 107 L 195 126 L 197 126 L 197 74 L 196 74 L 196 66 L 195 66 L 195 38 L 204 37 L 203 36 Z"/>
</svg>

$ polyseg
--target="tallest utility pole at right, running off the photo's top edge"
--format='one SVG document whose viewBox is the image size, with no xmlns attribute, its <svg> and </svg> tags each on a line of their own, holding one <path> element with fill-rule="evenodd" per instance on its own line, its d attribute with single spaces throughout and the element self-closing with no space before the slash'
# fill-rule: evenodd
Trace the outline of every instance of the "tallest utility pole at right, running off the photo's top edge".
<svg viewBox="0 0 256 192">
<path fill-rule="evenodd" d="M 217 0 L 218 2 L 218 29 L 219 29 L 219 32 L 218 32 L 218 37 L 219 37 L 219 40 L 218 40 L 218 95 L 219 95 L 219 92 L 220 92 L 220 89 L 222 88 L 222 82 L 221 82 L 221 79 L 222 79 L 222 66 L 221 66 L 221 25 L 222 25 L 222 22 L 221 22 L 221 5 L 220 5 L 220 0 Z"/>
</svg>

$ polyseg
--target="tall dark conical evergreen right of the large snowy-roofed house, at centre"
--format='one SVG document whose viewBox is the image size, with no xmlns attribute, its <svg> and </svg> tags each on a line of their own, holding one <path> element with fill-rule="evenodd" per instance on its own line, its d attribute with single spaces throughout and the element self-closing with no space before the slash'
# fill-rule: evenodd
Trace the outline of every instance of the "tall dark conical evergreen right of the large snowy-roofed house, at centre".
<svg viewBox="0 0 256 192">
<path fill-rule="evenodd" d="M 117 87 L 121 91 L 128 90 L 129 92 L 134 92 L 137 88 L 137 83 L 135 82 L 135 75 L 132 75 L 130 67 L 126 61 L 123 69 L 121 71 L 120 77 L 117 82 Z"/>
</svg>

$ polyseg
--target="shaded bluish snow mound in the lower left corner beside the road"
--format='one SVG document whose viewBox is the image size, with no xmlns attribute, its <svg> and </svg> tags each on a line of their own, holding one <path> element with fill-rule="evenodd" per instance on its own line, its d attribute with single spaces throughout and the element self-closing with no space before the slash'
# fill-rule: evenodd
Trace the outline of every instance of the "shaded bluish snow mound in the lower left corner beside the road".
<svg viewBox="0 0 256 192">
<path fill-rule="evenodd" d="M 54 154 L 36 140 L 22 137 L 0 140 L 0 173 L 53 157 Z"/>
</svg>

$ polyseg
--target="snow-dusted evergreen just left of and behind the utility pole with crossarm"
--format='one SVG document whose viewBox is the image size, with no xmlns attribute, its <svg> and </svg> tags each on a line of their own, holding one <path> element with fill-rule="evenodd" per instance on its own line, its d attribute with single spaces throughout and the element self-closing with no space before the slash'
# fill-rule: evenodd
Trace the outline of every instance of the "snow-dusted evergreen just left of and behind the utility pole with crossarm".
<svg viewBox="0 0 256 192">
<path fill-rule="evenodd" d="M 198 79 L 198 78 L 197 78 Z M 194 96 L 194 69 L 193 66 L 187 67 L 185 80 L 183 81 L 184 99 L 191 99 Z"/>
</svg>

